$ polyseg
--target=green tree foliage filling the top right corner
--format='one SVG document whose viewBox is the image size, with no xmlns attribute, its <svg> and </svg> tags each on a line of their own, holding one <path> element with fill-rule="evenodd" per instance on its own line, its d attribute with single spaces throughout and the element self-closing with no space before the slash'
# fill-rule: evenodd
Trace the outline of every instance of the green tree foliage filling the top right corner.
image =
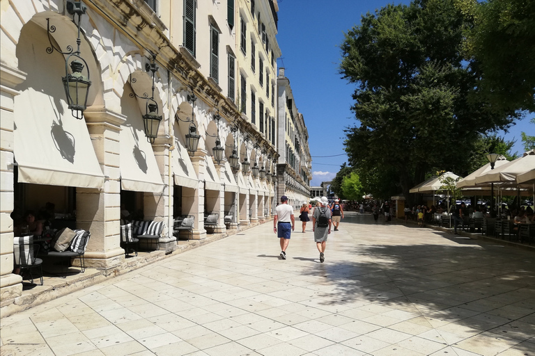
<svg viewBox="0 0 535 356">
<path fill-rule="evenodd" d="M 457 0 L 474 19 L 466 48 L 483 72 L 481 94 L 504 109 L 535 111 L 535 1 Z"/>
</svg>

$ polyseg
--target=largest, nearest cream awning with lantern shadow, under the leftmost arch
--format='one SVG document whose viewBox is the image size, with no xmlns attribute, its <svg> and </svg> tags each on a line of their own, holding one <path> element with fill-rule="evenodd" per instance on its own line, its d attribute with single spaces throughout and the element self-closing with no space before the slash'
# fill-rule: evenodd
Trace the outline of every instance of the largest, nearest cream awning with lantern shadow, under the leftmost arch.
<svg viewBox="0 0 535 356">
<path fill-rule="evenodd" d="M 66 104 L 63 113 L 58 118 L 52 98 L 33 88 L 27 88 L 15 100 L 13 150 L 18 181 L 102 188 L 104 175 L 86 121 L 73 118 Z"/>
</svg>

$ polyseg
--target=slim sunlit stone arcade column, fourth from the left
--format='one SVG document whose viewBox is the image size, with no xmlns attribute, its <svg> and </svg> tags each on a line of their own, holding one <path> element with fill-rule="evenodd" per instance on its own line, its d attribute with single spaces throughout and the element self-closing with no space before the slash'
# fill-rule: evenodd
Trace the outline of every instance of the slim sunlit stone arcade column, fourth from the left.
<svg viewBox="0 0 535 356">
<path fill-rule="evenodd" d="M 204 172 L 206 170 L 206 161 L 204 161 L 204 154 L 201 149 L 197 149 L 197 154 L 201 152 L 201 155 L 190 157 L 192 160 L 193 168 L 199 177 L 199 186 L 194 190 L 195 196 L 185 196 L 183 194 L 183 200 L 192 200 L 191 210 L 189 215 L 195 217 L 195 225 L 193 229 L 193 239 L 202 240 L 206 238 L 206 229 L 204 229 Z"/>
</svg>

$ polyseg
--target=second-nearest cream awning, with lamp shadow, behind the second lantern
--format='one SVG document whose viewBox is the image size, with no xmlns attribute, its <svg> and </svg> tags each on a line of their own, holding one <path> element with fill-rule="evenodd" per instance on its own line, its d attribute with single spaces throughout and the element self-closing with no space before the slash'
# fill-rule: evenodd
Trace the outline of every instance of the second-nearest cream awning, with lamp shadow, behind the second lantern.
<svg viewBox="0 0 535 356">
<path fill-rule="evenodd" d="M 130 88 L 125 86 L 124 95 Z M 123 105 L 123 114 L 128 118 L 121 125 L 120 168 L 121 188 L 125 191 L 162 193 L 164 184 L 156 163 L 153 146 L 145 136 L 143 118 L 136 103 Z"/>
</svg>

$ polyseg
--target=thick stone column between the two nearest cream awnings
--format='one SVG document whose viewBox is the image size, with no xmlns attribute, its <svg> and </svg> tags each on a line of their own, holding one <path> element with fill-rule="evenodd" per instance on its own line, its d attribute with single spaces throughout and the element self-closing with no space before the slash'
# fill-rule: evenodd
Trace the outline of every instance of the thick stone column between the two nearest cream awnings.
<svg viewBox="0 0 535 356">
<path fill-rule="evenodd" d="M 126 118 L 102 107 L 87 108 L 84 117 L 105 180 L 103 189 L 76 189 L 77 227 L 91 232 L 85 253 L 86 266 L 111 274 L 125 259 L 120 232 L 119 136 Z"/>
</svg>

